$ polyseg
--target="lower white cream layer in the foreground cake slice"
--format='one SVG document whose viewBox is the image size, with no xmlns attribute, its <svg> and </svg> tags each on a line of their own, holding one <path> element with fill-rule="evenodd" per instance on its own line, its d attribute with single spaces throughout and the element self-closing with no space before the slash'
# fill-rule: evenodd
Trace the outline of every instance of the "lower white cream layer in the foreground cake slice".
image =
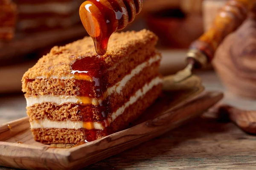
<svg viewBox="0 0 256 170">
<path fill-rule="evenodd" d="M 130 105 L 134 104 L 140 97 L 143 97 L 151 88 L 153 88 L 155 85 L 158 85 L 163 82 L 163 79 L 160 77 L 156 77 L 151 80 L 148 84 L 145 84 L 143 88 L 139 89 L 134 96 L 131 96 L 130 100 L 125 103 L 122 107 L 118 108 L 116 112 L 111 114 L 111 118 L 108 118 L 108 123 L 113 122 L 118 116 L 120 116 L 126 108 L 128 108 Z M 86 122 L 87 124 L 91 124 L 90 127 L 93 127 L 94 129 L 100 129 L 103 130 L 105 127 L 103 127 L 102 124 L 99 122 Z M 48 119 L 44 120 L 34 120 L 30 122 L 31 128 L 68 128 L 68 129 L 80 129 L 84 128 L 83 122 L 72 122 L 72 121 L 63 121 L 63 122 L 55 122 L 50 121 Z"/>
</svg>

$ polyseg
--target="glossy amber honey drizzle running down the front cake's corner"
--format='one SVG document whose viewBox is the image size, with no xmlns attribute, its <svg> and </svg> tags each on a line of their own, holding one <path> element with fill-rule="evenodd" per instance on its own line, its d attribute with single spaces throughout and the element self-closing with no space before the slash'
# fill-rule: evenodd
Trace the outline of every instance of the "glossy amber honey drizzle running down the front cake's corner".
<svg viewBox="0 0 256 170">
<path fill-rule="evenodd" d="M 94 86 L 94 92 L 96 93 L 96 98 L 103 97 L 103 91 L 106 90 L 106 82 L 105 78 L 103 77 L 103 73 L 107 70 L 105 66 L 105 61 L 102 57 L 99 56 L 92 56 L 92 57 L 84 57 L 81 59 L 76 60 L 71 65 L 71 73 L 74 75 L 75 79 L 81 79 L 82 77 L 90 77 L 90 83 Z M 87 96 L 91 96 L 91 94 L 87 94 Z M 84 97 L 81 98 L 81 103 L 78 105 L 79 111 L 82 110 L 82 103 L 85 99 Z M 108 102 L 104 100 L 104 102 Z M 104 127 L 109 126 L 108 123 L 108 108 L 106 107 L 105 103 L 102 100 L 99 100 L 99 105 L 95 107 L 91 107 L 90 110 L 86 111 L 85 114 L 81 114 L 81 119 L 83 121 L 83 130 L 84 130 L 84 141 L 90 142 L 96 139 L 96 130 L 93 127 L 93 124 L 89 122 L 93 122 L 93 110 L 95 108 L 97 114 L 100 115 L 102 121 L 99 121 Z M 90 130 L 90 133 L 87 132 Z"/>
</svg>

